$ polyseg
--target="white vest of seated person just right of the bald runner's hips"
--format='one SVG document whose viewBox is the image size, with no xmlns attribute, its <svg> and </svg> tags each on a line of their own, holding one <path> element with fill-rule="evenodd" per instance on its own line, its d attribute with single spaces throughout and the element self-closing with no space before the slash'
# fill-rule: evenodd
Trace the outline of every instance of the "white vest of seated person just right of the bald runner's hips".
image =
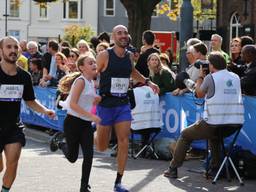
<svg viewBox="0 0 256 192">
<path fill-rule="evenodd" d="M 160 128 L 162 118 L 160 114 L 159 96 L 148 86 L 134 88 L 136 107 L 132 110 L 131 128 L 141 130 Z"/>
</svg>

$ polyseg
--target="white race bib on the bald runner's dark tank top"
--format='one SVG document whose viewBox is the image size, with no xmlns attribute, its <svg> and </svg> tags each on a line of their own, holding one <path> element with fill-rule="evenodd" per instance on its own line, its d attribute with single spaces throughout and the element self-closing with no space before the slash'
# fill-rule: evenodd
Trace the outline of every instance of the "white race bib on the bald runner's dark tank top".
<svg viewBox="0 0 256 192">
<path fill-rule="evenodd" d="M 114 96 L 123 97 L 127 95 L 129 78 L 111 78 L 110 93 Z"/>
</svg>

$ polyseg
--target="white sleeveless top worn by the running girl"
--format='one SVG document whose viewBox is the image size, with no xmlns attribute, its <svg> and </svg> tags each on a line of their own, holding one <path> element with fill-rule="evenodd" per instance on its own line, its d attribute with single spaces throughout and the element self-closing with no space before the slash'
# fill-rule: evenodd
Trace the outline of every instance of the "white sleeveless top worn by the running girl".
<svg viewBox="0 0 256 192">
<path fill-rule="evenodd" d="M 85 81 L 84 89 L 78 99 L 78 105 L 83 108 L 87 112 L 91 112 L 93 107 L 93 101 L 96 96 L 95 92 L 95 86 L 93 80 L 88 81 L 83 75 L 79 76 L 74 83 L 71 86 L 70 93 L 67 97 L 67 99 L 64 102 L 60 102 L 60 105 L 63 107 L 64 110 L 67 110 L 67 114 L 70 114 L 72 116 L 78 117 L 80 119 L 91 121 L 88 117 L 81 116 L 77 112 L 75 112 L 73 109 L 70 108 L 70 100 L 74 89 L 74 84 L 78 79 L 83 79 Z"/>
</svg>

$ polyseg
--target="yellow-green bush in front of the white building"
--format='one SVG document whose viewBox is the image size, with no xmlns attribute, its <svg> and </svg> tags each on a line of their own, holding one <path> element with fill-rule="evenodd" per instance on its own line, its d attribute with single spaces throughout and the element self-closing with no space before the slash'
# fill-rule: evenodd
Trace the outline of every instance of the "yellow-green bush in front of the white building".
<svg viewBox="0 0 256 192">
<path fill-rule="evenodd" d="M 64 29 L 63 39 L 69 41 L 72 46 L 75 46 L 81 39 L 90 42 L 93 35 L 95 35 L 95 32 L 91 26 L 68 25 Z"/>
</svg>

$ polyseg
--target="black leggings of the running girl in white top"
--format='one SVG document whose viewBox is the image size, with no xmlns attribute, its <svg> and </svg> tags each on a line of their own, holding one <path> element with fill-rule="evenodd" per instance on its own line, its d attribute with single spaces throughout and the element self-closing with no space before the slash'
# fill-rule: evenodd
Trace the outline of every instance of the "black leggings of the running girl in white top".
<svg viewBox="0 0 256 192">
<path fill-rule="evenodd" d="M 66 144 L 61 146 L 65 157 L 74 163 L 79 155 L 79 144 L 83 152 L 81 187 L 89 182 L 93 159 L 93 129 L 90 121 L 67 115 L 64 121 Z"/>
</svg>

